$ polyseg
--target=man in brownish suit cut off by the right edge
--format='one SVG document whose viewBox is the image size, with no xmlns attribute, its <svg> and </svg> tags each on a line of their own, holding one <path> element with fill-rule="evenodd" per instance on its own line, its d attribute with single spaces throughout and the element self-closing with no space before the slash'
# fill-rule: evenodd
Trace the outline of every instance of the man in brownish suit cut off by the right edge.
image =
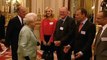
<svg viewBox="0 0 107 60">
<path fill-rule="evenodd" d="M 94 60 L 107 60 L 107 12 L 99 12 L 96 22 L 102 27 L 95 39 Z"/>
</svg>

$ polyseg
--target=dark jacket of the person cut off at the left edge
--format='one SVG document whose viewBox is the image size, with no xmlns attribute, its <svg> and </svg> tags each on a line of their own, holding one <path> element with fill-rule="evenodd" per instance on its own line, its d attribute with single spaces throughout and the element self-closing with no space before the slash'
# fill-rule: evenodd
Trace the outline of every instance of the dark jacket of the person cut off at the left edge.
<svg viewBox="0 0 107 60">
<path fill-rule="evenodd" d="M 0 39 L 5 38 L 5 16 L 0 16 Z"/>
</svg>

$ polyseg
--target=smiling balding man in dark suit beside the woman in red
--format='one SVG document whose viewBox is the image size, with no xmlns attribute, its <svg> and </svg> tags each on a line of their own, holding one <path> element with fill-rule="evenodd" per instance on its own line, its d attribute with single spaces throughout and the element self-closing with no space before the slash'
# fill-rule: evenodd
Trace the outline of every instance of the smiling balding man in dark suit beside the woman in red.
<svg viewBox="0 0 107 60">
<path fill-rule="evenodd" d="M 60 19 L 56 24 L 54 32 L 54 43 L 58 60 L 71 60 L 71 52 L 65 53 L 64 46 L 68 45 L 74 37 L 75 21 L 68 16 L 66 7 L 60 8 Z"/>
</svg>

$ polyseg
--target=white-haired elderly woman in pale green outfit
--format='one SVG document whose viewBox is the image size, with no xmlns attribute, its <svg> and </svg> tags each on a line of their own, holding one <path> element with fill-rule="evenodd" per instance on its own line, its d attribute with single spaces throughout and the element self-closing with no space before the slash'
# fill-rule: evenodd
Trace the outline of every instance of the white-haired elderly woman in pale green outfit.
<svg viewBox="0 0 107 60">
<path fill-rule="evenodd" d="M 37 42 L 34 27 L 37 15 L 28 13 L 24 18 L 25 25 L 21 29 L 18 41 L 18 60 L 36 60 Z"/>
</svg>

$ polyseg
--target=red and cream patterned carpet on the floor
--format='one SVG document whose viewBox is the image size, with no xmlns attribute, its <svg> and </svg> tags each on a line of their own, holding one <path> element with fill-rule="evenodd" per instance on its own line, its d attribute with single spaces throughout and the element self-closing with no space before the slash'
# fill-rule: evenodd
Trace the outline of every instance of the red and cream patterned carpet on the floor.
<svg viewBox="0 0 107 60">
<path fill-rule="evenodd" d="M 11 50 L 7 49 L 4 44 L 0 43 L 0 60 L 12 60 L 11 59 Z M 2 49 L 2 50 L 1 50 Z M 37 47 L 37 60 L 42 60 L 41 56 L 42 56 L 42 51 L 40 50 L 40 47 Z M 35 59 L 36 60 L 36 59 Z M 54 60 L 57 60 L 57 56 L 54 53 Z"/>
</svg>

